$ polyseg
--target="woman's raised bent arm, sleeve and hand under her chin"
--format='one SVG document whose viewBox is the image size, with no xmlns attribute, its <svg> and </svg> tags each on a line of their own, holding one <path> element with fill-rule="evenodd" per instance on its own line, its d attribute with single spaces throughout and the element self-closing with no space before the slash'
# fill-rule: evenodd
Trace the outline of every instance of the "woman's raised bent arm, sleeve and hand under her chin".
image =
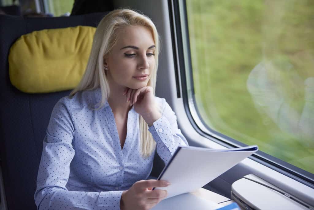
<svg viewBox="0 0 314 210">
<path fill-rule="evenodd" d="M 156 113 L 156 98 L 153 92 L 152 87 L 145 86 L 137 90 L 127 88 L 123 95 L 126 95 L 127 100 L 134 105 L 134 110 L 142 115 L 145 122 L 152 124 L 148 130 L 157 142 L 157 153 L 167 163 L 178 146 L 188 144 L 178 129 L 176 114 L 164 98 L 161 99 L 161 114 Z"/>
</svg>

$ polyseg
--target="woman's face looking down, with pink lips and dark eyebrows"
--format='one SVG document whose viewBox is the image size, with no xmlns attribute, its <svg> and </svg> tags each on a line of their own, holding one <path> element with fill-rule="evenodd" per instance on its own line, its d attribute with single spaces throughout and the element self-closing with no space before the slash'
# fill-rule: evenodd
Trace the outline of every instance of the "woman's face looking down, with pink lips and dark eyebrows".
<svg viewBox="0 0 314 210">
<path fill-rule="evenodd" d="M 151 31 L 143 26 L 119 29 L 118 39 L 104 59 L 111 88 L 138 89 L 147 86 L 155 66 L 155 43 Z"/>
</svg>

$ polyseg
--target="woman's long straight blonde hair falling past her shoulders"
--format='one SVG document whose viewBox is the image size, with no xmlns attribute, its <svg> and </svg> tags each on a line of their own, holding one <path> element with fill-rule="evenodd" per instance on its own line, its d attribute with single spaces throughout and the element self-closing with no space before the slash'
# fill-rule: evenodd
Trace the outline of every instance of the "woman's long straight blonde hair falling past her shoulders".
<svg viewBox="0 0 314 210">
<path fill-rule="evenodd" d="M 156 46 L 154 53 L 155 66 L 147 86 L 153 87 L 155 95 L 158 54 L 160 50 L 156 27 L 152 20 L 143 14 L 139 14 L 131 9 L 116 9 L 107 14 L 97 26 L 85 73 L 78 86 L 70 93 L 70 97 L 73 97 L 78 91 L 93 90 L 100 87 L 101 101 L 97 104 L 97 109 L 105 105 L 106 100 L 110 96 L 110 89 L 104 73 L 104 57 L 110 53 L 116 43 L 117 29 L 126 26 L 144 26 L 152 32 Z M 157 109 L 160 111 L 159 106 Z M 140 151 L 142 156 L 147 158 L 154 152 L 156 142 L 148 131 L 148 125 L 141 115 L 139 115 L 139 131 Z"/>
</svg>

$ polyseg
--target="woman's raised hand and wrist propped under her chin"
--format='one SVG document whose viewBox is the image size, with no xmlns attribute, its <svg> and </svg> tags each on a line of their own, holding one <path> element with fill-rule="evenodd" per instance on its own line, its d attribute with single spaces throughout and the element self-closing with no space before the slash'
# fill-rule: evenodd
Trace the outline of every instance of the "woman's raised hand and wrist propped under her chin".
<svg viewBox="0 0 314 210">
<path fill-rule="evenodd" d="M 161 114 L 155 106 L 152 87 L 145 86 L 139 89 L 127 88 L 124 93 L 130 101 L 130 106 L 134 106 L 134 110 L 142 115 L 149 126 L 161 117 Z"/>
</svg>

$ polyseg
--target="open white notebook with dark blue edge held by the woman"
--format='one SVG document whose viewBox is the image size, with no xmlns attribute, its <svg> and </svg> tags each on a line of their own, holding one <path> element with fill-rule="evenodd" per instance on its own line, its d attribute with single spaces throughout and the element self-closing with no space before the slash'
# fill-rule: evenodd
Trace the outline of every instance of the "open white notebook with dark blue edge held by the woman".
<svg viewBox="0 0 314 210">
<path fill-rule="evenodd" d="M 257 150 L 256 145 L 231 149 L 179 146 L 158 177 L 171 185 L 154 189 L 167 190 L 166 198 L 196 191 Z"/>
</svg>

